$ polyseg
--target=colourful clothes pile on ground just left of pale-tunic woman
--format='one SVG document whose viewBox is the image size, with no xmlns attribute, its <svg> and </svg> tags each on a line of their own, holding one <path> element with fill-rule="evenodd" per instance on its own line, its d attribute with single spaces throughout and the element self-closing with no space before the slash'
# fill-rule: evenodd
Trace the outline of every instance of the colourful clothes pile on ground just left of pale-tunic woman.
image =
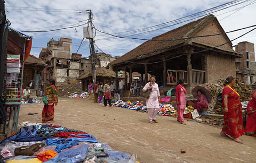
<svg viewBox="0 0 256 163">
<path fill-rule="evenodd" d="M 140 101 L 132 103 L 131 101 L 124 102 L 122 100 L 118 100 L 113 105 L 116 107 L 122 107 L 122 108 L 130 109 L 130 110 L 137 110 L 137 111 L 146 111 L 147 110 L 147 107 L 144 106 L 143 104 L 141 104 Z"/>
</svg>

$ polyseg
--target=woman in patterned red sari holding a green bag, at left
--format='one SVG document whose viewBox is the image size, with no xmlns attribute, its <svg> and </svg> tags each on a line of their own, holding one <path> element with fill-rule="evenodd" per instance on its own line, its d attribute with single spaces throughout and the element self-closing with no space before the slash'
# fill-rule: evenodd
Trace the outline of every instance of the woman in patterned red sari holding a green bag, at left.
<svg viewBox="0 0 256 163">
<path fill-rule="evenodd" d="M 58 104 L 58 92 L 55 86 L 55 80 L 47 80 L 47 85 L 45 89 L 45 95 L 47 97 L 48 105 L 44 105 L 42 111 L 42 122 L 53 121 L 54 118 L 54 104 Z"/>
</svg>

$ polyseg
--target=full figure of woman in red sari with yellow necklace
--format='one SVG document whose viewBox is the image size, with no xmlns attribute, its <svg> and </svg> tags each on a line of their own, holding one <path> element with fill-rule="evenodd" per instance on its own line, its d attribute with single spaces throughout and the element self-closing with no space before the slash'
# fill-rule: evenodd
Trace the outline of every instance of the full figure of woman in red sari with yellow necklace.
<svg viewBox="0 0 256 163">
<path fill-rule="evenodd" d="M 222 92 L 222 108 L 224 111 L 224 126 L 220 132 L 221 136 L 231 136 L 237 143 L 243 143 L 238 138 L 244 135 L 242 105 L 239 101 L 240 95 L 232 88 L 235 80 L 229 76 L 227 84 Z M 228 136 L 229 135 L 229 136 Z"/>
</svg>

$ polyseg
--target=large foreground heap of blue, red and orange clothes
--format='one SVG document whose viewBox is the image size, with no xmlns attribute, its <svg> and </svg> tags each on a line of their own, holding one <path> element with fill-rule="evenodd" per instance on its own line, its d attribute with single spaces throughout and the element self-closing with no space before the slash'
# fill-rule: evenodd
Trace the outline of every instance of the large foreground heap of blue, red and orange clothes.
<svg viewBox="0 0 256 163">
<path fill-rule="evenodd" d="M 0 144 L 0 162 L 138 162 L 92 135 L 57 125 L 21 127 Z"/>
</svg>

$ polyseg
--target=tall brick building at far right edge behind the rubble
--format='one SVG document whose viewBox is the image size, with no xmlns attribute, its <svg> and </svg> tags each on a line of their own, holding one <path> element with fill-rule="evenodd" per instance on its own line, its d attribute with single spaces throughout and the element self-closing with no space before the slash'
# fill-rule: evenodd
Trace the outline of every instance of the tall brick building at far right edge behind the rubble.
<svg viewBox="0 0 256 163">
<path fill-rule="evenodd" d="M 242 58 L 236 59 L 236 77 L 246 84 L 252 84 L 256 81 L 256 64 L 254 44 L 251 42 L 239 42 L 235 46 L 236 52 L 242 54 Z"/>
</svg>

